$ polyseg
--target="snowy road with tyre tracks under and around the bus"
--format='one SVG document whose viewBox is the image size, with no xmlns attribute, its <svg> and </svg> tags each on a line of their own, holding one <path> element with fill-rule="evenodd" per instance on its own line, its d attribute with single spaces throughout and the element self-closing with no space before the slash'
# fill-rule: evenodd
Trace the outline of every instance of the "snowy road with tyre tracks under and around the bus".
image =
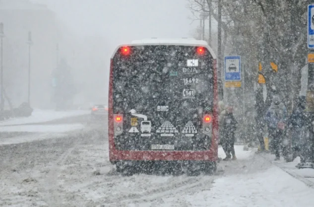
<svg viewBox="0 0 314 207">
<path fill-rule="evenodd" d="M 219 164 L 223 175 L 123 177 L 109 162 L 105 124 L 1 145 L 0 206 L 313 207 L 314 189 L 242 148 Z"/>
</svg>

